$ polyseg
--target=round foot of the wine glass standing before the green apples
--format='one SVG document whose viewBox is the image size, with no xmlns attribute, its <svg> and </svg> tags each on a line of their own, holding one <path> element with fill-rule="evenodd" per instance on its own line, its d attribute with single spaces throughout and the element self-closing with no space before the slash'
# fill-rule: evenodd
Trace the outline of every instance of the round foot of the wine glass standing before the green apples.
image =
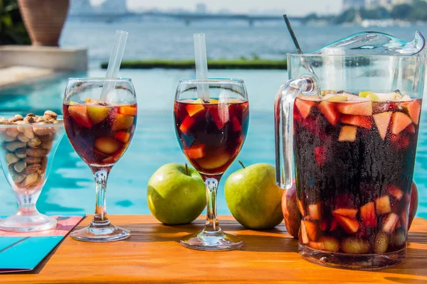
<svg viewBox="0 0 427 284">
<path fill-rule="evenodd" d="M 243 240 L 238 236 L 226 234 L 223 231 L 218 233 L 206 233 L 200 231 L 196 234 L 184 236 L 181 244 L 189 249 L 199 251 L 231 251 L 243 246 Z"/>
</svg>

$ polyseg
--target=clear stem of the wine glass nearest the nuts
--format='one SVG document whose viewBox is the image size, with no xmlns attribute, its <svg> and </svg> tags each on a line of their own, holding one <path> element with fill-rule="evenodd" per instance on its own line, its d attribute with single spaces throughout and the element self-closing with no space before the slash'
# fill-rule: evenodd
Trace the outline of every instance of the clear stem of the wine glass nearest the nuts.
<svg viewBox="0 0 427 284">
<path fill-rule="evenodd" d="M 107 179 L 110 170 L 97 170 L 93 175 L 95 177 L 95 217 L 93 224 L 104 225 L 109 224 L 107 217 L 107 204 L 105 200 L 105 192 L 107 191 Z"/>
</svg>

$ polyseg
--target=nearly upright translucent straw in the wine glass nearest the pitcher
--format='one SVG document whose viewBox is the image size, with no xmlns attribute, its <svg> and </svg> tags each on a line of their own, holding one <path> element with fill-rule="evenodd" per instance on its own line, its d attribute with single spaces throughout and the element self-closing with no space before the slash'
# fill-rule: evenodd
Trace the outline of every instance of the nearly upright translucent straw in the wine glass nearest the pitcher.
<svg viewBox="0 0 427 284">
<path fill-rule="evenodd" d="M 197 80 L 208 80 L 208 60 L 206 58 L 206 41 L 204 33 L 194 33 L 194 60 L 196 61 Z M 209 102 L 209 84 L 197 84 L 197 96 Z"/>
</svg>

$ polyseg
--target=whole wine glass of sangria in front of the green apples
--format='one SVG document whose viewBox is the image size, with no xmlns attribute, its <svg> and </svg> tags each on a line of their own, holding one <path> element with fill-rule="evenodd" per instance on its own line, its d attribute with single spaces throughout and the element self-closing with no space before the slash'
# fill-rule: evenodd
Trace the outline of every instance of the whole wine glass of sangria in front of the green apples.
<svg viewBox="0 0 427 284">
<path fill-rule="evenodd" d="M 181 80 L 176 89 L 174 120 L 179 145 L 204 179 L 207 199 L 204 229 L 184 236 L 181 244 L 204 251 L 243 246 L 242 239 L 221 230 L 216 217 L 218 182 L 241 151 L 248 132 L 249 103 L 243 80 Z"/>
</svg>

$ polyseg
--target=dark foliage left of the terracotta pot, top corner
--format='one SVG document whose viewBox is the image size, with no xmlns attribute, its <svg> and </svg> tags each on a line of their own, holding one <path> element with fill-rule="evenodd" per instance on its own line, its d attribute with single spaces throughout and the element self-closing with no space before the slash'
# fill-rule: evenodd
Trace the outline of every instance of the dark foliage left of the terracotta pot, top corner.
<svg viewBox="0 0 427 284">
<path fill-rule="evenodd" d="M 17 0 L 0 0 L 0 45 L 30 44 Z"/>
</svg>

